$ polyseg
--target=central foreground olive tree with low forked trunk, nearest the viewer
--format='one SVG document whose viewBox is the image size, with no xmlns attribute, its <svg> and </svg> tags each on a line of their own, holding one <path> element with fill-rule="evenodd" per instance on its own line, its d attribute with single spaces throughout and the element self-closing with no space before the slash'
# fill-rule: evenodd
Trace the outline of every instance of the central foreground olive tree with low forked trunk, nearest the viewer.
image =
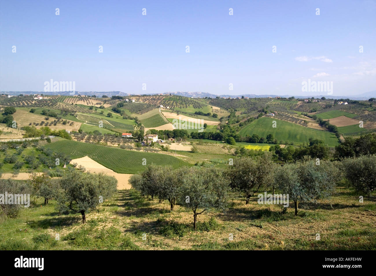
<svg viewBox="0 0 376 276">
<path fill-rule="evenodd" d="M 229 181 L 221 169 L 182 167 L 177 177 L 181 183 L 179 203 L 193 211 L 194 230 L 199 214 L 211 208 L 225 208 Z"/>
</svg>

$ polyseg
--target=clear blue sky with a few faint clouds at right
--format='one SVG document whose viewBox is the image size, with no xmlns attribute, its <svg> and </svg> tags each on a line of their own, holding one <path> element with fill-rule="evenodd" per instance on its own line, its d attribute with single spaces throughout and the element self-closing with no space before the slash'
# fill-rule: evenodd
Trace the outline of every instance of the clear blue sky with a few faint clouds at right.
<svg viewBox="0 0 376 276">
<path fill-rule="evenodd" d="M 0 0 L 0 91 L 53 79 L 131 94 L 358 95 L 376 90 L 375 14 L 373 0 Z M 303 92 L 308 80 L 332 91 Z"/>
</svg>

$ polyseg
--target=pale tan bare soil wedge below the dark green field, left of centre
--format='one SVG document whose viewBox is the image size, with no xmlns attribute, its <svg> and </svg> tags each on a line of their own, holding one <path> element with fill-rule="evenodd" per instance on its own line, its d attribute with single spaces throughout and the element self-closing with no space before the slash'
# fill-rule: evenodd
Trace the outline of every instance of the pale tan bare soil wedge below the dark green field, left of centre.
<svg viewBox="0 0 376 276">
<path fill-rule="evenodd" d="M 114 172 L 113 170 L 110 170 L 106 168 L 105 166 L 99 164 L 98 162 L 92 160 L 88 156 L 73 159 L 71 161 L 71 164 L 73 163 L 77 163 L 77 165 L 81 165 L 85 167 L 87 172 L 95 172 L 95 173 L 104 172 L 108 175 L 114 176 L 118 181 L 118 184 L 117 184 L 118 190 L 125 190 L 125 189 L 131 188 L 128 182 L 131 174 Z"/>
</svg>

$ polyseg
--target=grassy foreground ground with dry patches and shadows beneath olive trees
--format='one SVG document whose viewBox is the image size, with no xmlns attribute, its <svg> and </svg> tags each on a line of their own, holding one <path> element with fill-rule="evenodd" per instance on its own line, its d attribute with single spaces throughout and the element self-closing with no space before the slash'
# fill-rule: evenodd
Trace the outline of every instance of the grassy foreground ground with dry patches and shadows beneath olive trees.
<svg viewBox="0 0 376 276">
<path fill-rule="evenodd" d="M 197 232 L 191 210 L 176 206 L 170 213 L 167 201 L 159 204 L 134 190 L 118 191 L 86 215 L 85 225 L 80 214 L 58 214 L 53 200 L 41 204 L 36 198 L 18 218 L 0 219 L 0 250 L 376 249 L 376 202 L 359 203 L 347 187 L 339 187 L 330 201 L 301 205 L 296 217 L 293 204 L 281 214 L 278 206 L 257 204 L 256 196 L 245 205 L 233 194 L 225 213 L 198 216 Z"/>
</svg>

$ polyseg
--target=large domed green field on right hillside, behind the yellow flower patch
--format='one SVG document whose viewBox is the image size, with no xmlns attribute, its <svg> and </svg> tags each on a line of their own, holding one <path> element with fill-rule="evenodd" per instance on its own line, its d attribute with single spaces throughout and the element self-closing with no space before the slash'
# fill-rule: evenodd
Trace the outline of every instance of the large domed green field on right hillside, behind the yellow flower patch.
<svg viewBox="0 0 376 276">
<path fill-rule="evenodd" d="M 273 128 L 273 121 L 276 121 L 277 127 Z M 273 134 L 274 138 L 302 144 L 308 142 L 310 137 L 323 140 L 328 146 L 337 146 L 338 139 L 333 133 L 324 130 L 315 130 L 313 128 L 302 127 L 290 122 L 281 121 L 274 118 L 262 117 L 246 125 L 239 131 L 240 136 L 246 137 L 247 134 L 252 136 L 258 134 L 260 137 L 266 137 Z"/>
</svg>

